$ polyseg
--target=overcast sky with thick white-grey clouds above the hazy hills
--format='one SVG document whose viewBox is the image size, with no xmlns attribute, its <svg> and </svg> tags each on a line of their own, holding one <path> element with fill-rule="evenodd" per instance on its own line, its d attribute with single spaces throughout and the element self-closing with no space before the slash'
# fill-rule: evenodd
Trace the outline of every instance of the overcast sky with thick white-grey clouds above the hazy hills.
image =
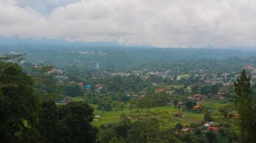
<svg viewBox="0 0 256 143">
<path fill-rule="evenodd" d="M 0 39 L 256 46 L 255 0 L 0 0 Z"/>
</svg>

